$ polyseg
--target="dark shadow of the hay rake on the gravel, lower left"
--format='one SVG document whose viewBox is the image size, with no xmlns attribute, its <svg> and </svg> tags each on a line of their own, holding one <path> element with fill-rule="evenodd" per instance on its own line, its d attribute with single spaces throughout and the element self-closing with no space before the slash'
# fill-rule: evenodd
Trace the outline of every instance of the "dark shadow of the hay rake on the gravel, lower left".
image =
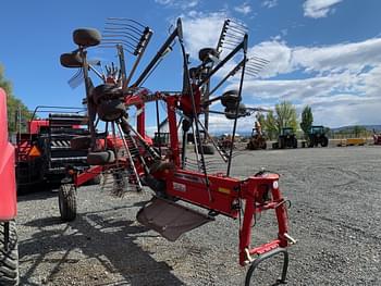
<svg viewBox="0 0 381 286">
<path fill-rule="evenodd" d="M 60 217 L 26 223 L 39 232 L 20 241 L 20 262 L 28 265 L 21 285 L 184 285 L 170 265 L 143 249 L 148 243 L 135 243 L 148 229 L 114 219 L 112 211 L 79 214 L 69 224 Z"/>
</svg>

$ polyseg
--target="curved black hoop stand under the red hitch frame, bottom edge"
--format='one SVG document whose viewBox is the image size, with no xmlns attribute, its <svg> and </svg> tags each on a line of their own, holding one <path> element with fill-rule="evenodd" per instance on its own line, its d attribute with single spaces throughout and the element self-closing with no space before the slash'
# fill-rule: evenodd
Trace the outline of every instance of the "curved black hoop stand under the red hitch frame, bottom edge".
<svg viewBox="0 0 381 286">
<path fill-rule="evenodd" d="M 260 254 L 257 259 L 255 259 L 250 268 L 248 269 L 246 273 L 246 278 L 245 278 L 245 286 L 250 285 L 250 278 L 254 275 L 254 271 L 257 269 L 257 266 L 263 262 L 265 260 L 272 258 L 274 256 L 278 256 L 279 253 L 283 253 L 283 269 L 282 269 L 282 276 L 280 279 L 276 279 L 276 283 L 274 285 L 280 285 L 280 284 L 287 284 L 287 269 L 288 269 L 288 252 L 287 249 L 285 248 L 275 248 L 273 250 L 270 250 L 269 252 L 266 252 L 263 254 Z M 254 284 L 251 284 L 254 285 Z"/>
</svg>

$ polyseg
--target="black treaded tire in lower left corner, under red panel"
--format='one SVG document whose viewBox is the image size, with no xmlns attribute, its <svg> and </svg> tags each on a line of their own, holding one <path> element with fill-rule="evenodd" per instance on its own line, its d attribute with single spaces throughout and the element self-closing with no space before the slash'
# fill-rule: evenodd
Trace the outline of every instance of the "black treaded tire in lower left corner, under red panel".
<svg viewBox="0 0 381 286">
<path fill-rule="evenodd" d="M 15 222 L 10 221 L 10 240 L 5 250 L 4 225 L 5 223 L 0 223 L 0 285 L 14 286 L 20 281 L 17 231 Z"/>
</svg>

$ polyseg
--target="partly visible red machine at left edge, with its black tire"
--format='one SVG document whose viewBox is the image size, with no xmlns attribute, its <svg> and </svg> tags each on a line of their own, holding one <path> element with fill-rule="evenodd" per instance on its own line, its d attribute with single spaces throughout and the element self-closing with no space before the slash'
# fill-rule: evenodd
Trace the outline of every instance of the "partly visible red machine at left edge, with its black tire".
<svg viewBox="0 0 381 286">
<path fill-rule="evenodd" d="M 9 142 L 7 95 L 0 88 L 0 285 L 19 285 L 14 147 Z"/>
</svg>

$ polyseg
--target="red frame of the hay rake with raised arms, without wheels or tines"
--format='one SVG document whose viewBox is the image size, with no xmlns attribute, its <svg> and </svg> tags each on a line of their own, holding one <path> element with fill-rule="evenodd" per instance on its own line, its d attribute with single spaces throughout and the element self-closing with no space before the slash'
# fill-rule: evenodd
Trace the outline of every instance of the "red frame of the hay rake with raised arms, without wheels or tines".
<svg viewBox="0 0 381 286">
<path fill-rule="evenodd" d="M 179 38 L 183 58 L 184 58 L 184 73 L 187 78 L 188 89 L 180 94 L 165 94 L 165 92 L 150 92 L 148 89 L 139 89 L 140 83 L 150 73 L 151 69 L 157 64 L 158 60 L 161 58 L 163 52 L 170 47 L 171 42 Z M 98 40 L 96 39 L 94 45 Z M 88 63 L 86 60 L 86 46 L 79 46 L 81 54 L 81 65 L 83 69 L 85 83 L 88 80 Z M 239 220 L 239 264 L 247 265 L 250 264 L 250 269 L 246 276 L 246 285 L 249 285 L 250 275 L 253 275 L 256 266 L 263 260 L 275 256 L 280 252 L 284 254 L 283 272 L 281 283 L 285 283 L 286 271 L 288 264 L 288 254 L 286 248 L 296 243 L 288 235 L 287 225 L 287 200 L 283 198 L 281 190 L 279 188 L 279 174 L 259 172 L 255 175 L 249 176 L 246 179 L 238 179 L 230 176 L 231 159 L 228 164 L 228 172 L 207 174 L 207 172 L 195 172 L 189 170 L 184 170 L 182 160 L 184 157 L 184 148 L 180 148 L 180 140 L 177 136 L 177 113 L 183 113 L 186 116 L 192 117 L 195 122 L 196 129 L 198 128 L 198 115 L 204 112 L 205 105 L 201 104 L 201 86 L 205 85 L 210 77 L 223 66 L 230 59 L 232 59 L 237 51 L 244 51 L 244 60 L 239 63 L 242 64 L 242 77 L 239 83 L 238 97 L 241 98 L 242 86 L 243 86 L 243 75 L 245 73 L 245 63 L 247 62 L 246 51 L 247 51 L 247 35 L 245 34 L 244 39 L 236 48 L 230 52 L 222 61 L 220 61 L 214 69 L 212 69 L 208 77 L 200 80 L 198 84 L 192 83 L 189 76 L 189 69 L 187 66 L 185 48 L 183 46 L 182 39 L 182 27 L 181 21 L 177 21 L 176 29 L 169 36 L 165 43 L 160 48 L 157 55 L 147 65 L 146 70 L 142 73 L 140 77 L 133 84 L 130 88 L 123 84 L 120 91 L 115 91 L 113 98 L 118 97 L 125 107 L 135 105 L 142 109 L 137 115 L 137 130 L 135 134 L 142 140 L 146 140 L 145 134 L 145 112 L 144 107 L 149 101 L 162 100 L 167 104 L 168 122 L 169 122 L 169 133 L 170 133 L 170 152 L 165 154 L 164 158 L 160 160 L 169 163 L 167 167 L 160 169 L 158 171 L 150 172 L 156 179 L 164 182 L 164 192 L 168 197 L 173 199 L 179 199 L 186 201 L 190 204 L 198 206 L 206 210 L 209 210 L 211 216 L 217 214 L 223 214 L 232 219 Z M 75 57 L 75 55 L 74 55 Z M 237 65 L 238 66 L 238 65 Z M 69 66 L 71 67 L 71 66 Z M 123 76 L 122 76 L 123 77 Z M 219 84 L 220 85 L 220 84 Z M 89 92 L 89 87 L 86 86 L 87 100 L 91 100 L 91 95 Z M 218 98 L 217 98 L 218 99 Z M 209 104 L 216 99 L 209 101 Z M 90 109 L 91 107 L 89 107 Z M 233 138 L 236 128 L 236 121 L 238 117 L 238 105 L 235 109 L 235 120 L 233 127 Z M 231 114 L 234 115 L 234 114 Z M 123 115 L 122 115 L 123 116 Z M 118 123 L 119 121 L 119 123 Z M 116 124 L 121 124 L 121 119 L 115 120 Z M 193 124 L 193 123 L 192 123 Z M 130 128 L 131 126 L 128 126 Z M 132 127 L 131 127 L 132 128 Z M 128 130 L 130 132 L 130 130 Z M 124 129 L 123 129 L 123 133 Z M 197 129 L 198 133 L 198 129 Z M 121 134 L 123 136 L 123 134 Z M 147 144 L 147 141 L 145 142 Z M 127 146 L 125 146 L 128 148 Z M 232 158 L 232 149 L 230 158 Z M 201 156 L 202 152 L 201 152 Z M 116 159 L 120 160 L 120 159 Z M 204 160 L 204 159 L 202 159 Z M 149 159 L 148 159 L 149 161 Z M 120 160 L 121 163 L 128 164 L 127 161 Z M 136 164 L 136 170 L 142 175 L 147 175 L 144 162 L 134 162 Z M 169 166 L 171 165 L 171 167 Z M 112 164 L 106 164 L 105 166 L 95 166 L 89 170 L 89 172 L 84 174 L 74 173 L 74 184 L 79 186 L 82 183 L 88 179 L 89 176 L 94 174 L 101 173 L 105 169 L 112 167 Z M 269 243 L 262 244 L 257 247 L 251 246 L 251 228 L 255 222 L 257 213 L 273 210 L 276 222 L 278 222 L 278 234 L 276 237 Z M 243 212 L 243 214 L 242 214 Z M 254 258 L 256 257 L 256 258 Z"/>
</svg>

